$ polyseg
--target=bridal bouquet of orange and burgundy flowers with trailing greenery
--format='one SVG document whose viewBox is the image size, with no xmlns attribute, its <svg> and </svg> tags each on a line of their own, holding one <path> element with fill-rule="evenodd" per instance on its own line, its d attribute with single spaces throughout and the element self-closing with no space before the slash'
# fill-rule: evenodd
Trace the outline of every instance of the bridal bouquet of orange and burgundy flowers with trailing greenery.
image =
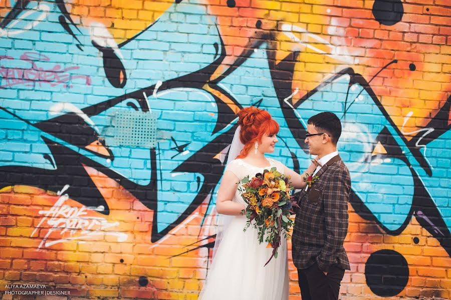
<svg viewBox="0 0 451 300">
<path fill-rule="evenodd" d="M 248 203 L 243 210 L 243 214 L 246 213 L 248 218 L 244 231 L 255 221 L 254 227 L 259 230 L 259 242 L 262 243 L 265 239 L 268 242 L 267 247 L 273 248 L 273 253 L 265 265 L 273 256 L 277 258 L 281 234 L 290 236 L 288 232 L 294 221 L 289 216 L 294 213 L 293 206 L 299 207 L 293 196 L 290 196 L 293 187 L 289 179 L 273 167 L 271 170 L 265 169 L 263 174 L 257 173 L 252 178 L 246 176 L 239 182 L 242 183 L 241 196 Z"/>
</svg>

